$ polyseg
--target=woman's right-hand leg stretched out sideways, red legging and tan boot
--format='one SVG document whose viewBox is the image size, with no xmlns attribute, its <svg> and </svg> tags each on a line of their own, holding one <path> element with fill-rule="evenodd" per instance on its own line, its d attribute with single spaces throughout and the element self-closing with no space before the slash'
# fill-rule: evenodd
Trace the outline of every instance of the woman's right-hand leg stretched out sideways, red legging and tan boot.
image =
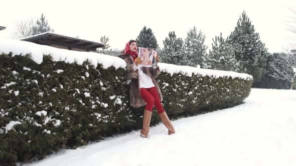
<svg viewBox="0 0 296 166">
<path fill-rule="evenodd" d="M 161 100 L 159 98 L 158 92 L 156 87 L 151 87 L 147 89 L 154 97 L 154 105 L 159 113 L 159 116 L 161 118 L 161 120 L 163 121 L 163 123 L 165 124 L 165 126 L 168 128 L 168 134 L 171 135 L 173 133 L 175 133 L 175 128 L 171 122 L 171 120 L 169 119 L 169 116 L 167 115 L 167 113 L 165 112 L 163 105 L 161 103 Z"/>
</svg>

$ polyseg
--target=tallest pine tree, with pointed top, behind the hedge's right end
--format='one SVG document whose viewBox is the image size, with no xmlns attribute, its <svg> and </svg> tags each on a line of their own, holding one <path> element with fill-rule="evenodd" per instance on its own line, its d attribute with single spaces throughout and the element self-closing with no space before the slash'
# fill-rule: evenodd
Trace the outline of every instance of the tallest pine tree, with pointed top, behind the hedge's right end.
<svg viewBox="0 0 296 166">
<path fill-rule="evenodd" d="M 252 75 L 254 82 L 260 81 L 265 72 L 268 52 L 245 11 L 239 17 L 237 26 L 229 35 L 227 42 L 234 48 L 236 60 L 241 61 L 242 69 L 238 72 Z"/>
</svg>

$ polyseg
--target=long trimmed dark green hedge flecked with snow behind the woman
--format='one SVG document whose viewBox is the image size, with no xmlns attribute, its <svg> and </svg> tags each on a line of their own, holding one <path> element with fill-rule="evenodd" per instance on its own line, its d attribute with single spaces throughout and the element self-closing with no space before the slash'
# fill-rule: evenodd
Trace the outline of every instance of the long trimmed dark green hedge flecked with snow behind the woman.
<svg viewBox="0 0 296 166">
<path fill-rule="evenodd" d="M 143 107 L 129 106 L 124 74 L 123 68 L 53 61 L 50 55 L 41 64 L 30 55 L 0 55 L 0 163 L 24 162 L 141 128 Z M 251 79 L 167 72 L 157 82 L 172 119 L 240 104 L 252 85 Z M 40 111 L 47 114 L 37 115 Z M 7 131 L 10 121 L 21 124 Z M 151 124 L 159 122 L 153 113 Z"/>
</svg>

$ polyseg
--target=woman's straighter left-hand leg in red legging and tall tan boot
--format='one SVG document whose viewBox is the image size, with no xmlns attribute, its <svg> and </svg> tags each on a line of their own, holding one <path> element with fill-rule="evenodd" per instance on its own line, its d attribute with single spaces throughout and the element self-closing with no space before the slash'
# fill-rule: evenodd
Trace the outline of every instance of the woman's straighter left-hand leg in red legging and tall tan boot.
<svg viewBox="0 0 296 166">
<path fill-rule="evenodd" d="M 146 106 L 143 113 L 143 126 L 140 132 L 140 136 L 147 137 L 152 116 L 154 97 L 145 88 L 140 88 L 140 93 L 142 98 L 146 101 Z"/>
</svg>

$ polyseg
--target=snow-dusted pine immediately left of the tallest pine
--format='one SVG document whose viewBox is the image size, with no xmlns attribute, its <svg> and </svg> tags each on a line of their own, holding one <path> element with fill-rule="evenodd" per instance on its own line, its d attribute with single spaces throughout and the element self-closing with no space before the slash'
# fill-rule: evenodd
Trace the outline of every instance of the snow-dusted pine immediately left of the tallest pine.
<svg viewBox="0 0 296 166">
<path fill-rule="evenodd" d="M 220 33 L 220 36 L 215 36 L 215 40 L 214 38 L 212 40 L 212 49 L 209 54 L 203 56 L 203 68 L 228 71 L 235 71 L 239 68 L 237 66 L 239 63 L 234 56 L 234 50 L 222 37 L 222 33 Z"/>
</svg>

